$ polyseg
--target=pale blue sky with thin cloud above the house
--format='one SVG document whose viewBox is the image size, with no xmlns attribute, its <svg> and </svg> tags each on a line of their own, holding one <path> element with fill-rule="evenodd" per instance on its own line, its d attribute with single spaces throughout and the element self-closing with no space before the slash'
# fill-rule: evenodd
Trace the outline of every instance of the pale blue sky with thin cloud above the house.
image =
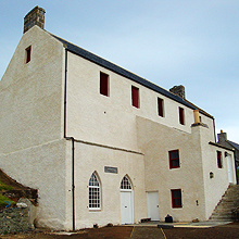
<svg viewBox="0 0 239 239">
<path fill-rule="evenodd" d="M 0 78 L 36 5 L 48 32 L 166 90 L 184 85 L 239 143 L 238 0 L 0 0 Z"/>
</svg>

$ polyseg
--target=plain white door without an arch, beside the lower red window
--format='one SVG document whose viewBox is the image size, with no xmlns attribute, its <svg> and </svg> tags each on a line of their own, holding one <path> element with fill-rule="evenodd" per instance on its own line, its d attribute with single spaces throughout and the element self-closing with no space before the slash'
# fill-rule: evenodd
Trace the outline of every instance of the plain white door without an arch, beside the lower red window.
<svg viewBox="0 0 239 239">
<path fill-rule="evenodd" d="M 159 191 L 147 192 L 148 217 L 151 221 L 160 221 Z"/>
</svg>

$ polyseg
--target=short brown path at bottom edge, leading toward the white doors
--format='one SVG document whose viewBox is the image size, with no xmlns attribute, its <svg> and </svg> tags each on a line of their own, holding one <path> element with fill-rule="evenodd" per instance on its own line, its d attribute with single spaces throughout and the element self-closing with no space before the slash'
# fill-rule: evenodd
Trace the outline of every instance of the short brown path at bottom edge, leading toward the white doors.
<svg viewBox="0 0 239 239">
<path fill-rule="evenodd" d="M 161 228 L 155 227 L 134 227 L 130 239 L 165 239 L 165 235 Z"/>
</svg>

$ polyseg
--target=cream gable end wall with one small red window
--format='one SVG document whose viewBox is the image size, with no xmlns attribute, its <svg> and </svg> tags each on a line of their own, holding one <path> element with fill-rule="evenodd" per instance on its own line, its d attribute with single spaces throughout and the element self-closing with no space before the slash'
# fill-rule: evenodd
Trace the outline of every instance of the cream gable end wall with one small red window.
<svg viewBox="0 0 239 239">
<path fill-rule="evenodd" d="M 29 46 L 32 58 L 26 64 Z M 62 139 L 63 62 L 62 43 L 35 26 L 23 35 L 0 81 L 0 167 L 38 189 L 37 224 L 58 229 L 72 227 L 66 221 Z"/>
</svg>

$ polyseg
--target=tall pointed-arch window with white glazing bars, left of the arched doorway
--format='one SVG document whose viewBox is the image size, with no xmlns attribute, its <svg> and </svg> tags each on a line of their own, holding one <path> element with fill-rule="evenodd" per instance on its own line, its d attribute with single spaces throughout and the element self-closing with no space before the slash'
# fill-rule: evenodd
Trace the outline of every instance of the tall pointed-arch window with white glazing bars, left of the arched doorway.
<svg viewBox="0 0 239 239">
<path fill-rule="evenodd" d="M 95 173 L 89 179 L 89 209 L 100 209 L 100 183 Z"/>
</svg>

